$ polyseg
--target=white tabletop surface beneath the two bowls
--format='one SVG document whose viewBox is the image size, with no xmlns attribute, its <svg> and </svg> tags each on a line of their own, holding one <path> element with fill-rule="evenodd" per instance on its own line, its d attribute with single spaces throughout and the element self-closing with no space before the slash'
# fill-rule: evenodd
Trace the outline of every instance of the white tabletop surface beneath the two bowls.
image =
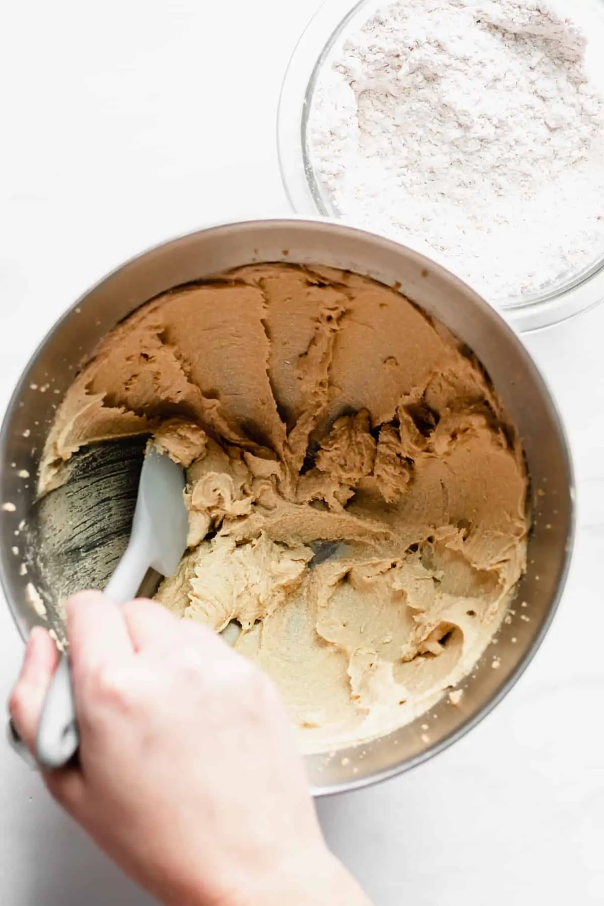
<svg viewBox="0 0 604 906">
<path fill-rule="evenodd" d="M 22 0 L 0 53 L 0 409 L 43 333 L 113 265 L 207 221 L 286 214 L 283 70 L 317 0 Z M 561 406 L 579 532 L 536 660 L 461 743 L 321 802 L 378 906 L 604 902 L 604 306 L 527 344 Z M 0 698 L 22 646 L 0 606 Z M 143 906 L 0 743 L 3 906 Z"/>
</svg>

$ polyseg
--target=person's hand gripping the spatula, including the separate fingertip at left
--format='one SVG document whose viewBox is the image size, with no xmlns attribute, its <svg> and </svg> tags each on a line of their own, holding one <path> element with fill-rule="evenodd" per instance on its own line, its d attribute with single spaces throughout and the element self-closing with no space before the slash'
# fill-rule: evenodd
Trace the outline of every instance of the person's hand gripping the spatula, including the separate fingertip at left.
<svg viewBox="0 0 604 906">
<path fill-rule="evenodd" d="M 270 680 L 150 601 L 67 603 L 80 759 L 54 798 L 167 906 L 367 904 L 321 836 Z M 30 636 L 9 710 L 31 751 L 58 660 Z"/>
</svg>

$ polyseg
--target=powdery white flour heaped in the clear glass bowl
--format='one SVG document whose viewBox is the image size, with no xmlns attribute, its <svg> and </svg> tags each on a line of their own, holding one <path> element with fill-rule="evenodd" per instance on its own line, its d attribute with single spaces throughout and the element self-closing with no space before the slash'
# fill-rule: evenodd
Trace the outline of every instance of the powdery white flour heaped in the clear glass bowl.
<svg viewBox="0 0 604 906">
<path fill-rule="evenodd" d="M 383 7 L 313 94 L 323 197 L 491 299 L 588 267 L 604 253 L 604 98 L 585 48 L 544 0 Z"/>
</svg>

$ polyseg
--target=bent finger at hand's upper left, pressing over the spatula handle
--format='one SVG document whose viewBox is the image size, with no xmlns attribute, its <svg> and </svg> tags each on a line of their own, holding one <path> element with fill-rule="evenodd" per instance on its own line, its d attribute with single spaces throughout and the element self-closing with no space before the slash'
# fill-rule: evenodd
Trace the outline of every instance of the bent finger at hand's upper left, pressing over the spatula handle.
<svg viewBox="0 0 604 906">
<path fill-rule="evenodd" d="M 120 608 L 101 592 L 79 592 L 66 604 L 67 638 L 74 685 L 82 672 L 123 660 L 133 653 Z"/>
</svg>

